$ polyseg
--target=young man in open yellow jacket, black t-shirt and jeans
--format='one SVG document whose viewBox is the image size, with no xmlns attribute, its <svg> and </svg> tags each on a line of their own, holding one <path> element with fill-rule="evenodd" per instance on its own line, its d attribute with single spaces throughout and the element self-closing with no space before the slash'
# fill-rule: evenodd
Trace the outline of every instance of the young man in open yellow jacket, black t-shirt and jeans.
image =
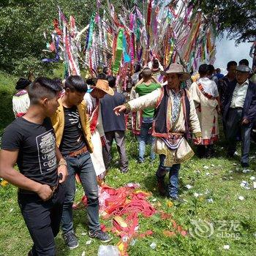
<svg viewBox="0 0 256 256">
<path fill-rule="evenodd" d="M 90 153 L 93 151 L 86 104 L 83 101 L 87 85 L 78 75 L 70 75 L 64 84 L 65 93 L 59 99 L 59 108 L 51 121 L 56 133 L 56 144 L 67 161 L 68 177 L 64 184 L 65 200 L 61 217 L 61 229 L 65 244 L 70 249 L 78 247 L 72 218 L 75 199 L 75 175 L 78 174 L 86 194 L 89 236 L 103 242 L 111 240 L 102 232 L 99 224 L 98 186 Z M 107 89 L 106 89 L 107 90 Z"/>
</svg>

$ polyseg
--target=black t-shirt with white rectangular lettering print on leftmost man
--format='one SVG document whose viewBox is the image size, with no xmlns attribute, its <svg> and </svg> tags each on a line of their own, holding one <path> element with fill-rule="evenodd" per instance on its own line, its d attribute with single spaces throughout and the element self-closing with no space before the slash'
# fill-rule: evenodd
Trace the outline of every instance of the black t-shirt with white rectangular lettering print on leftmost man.
<svg viewBox="0 0 256 256">
<path fill-rule="evenodd" d="M 57 184 L 56 137 L 50 118 L 43 124 L 16 118 L 4 130 L 1 149 L 19 150 L 17 165 L 27 178 L 51 187 Z"/>
</svg>

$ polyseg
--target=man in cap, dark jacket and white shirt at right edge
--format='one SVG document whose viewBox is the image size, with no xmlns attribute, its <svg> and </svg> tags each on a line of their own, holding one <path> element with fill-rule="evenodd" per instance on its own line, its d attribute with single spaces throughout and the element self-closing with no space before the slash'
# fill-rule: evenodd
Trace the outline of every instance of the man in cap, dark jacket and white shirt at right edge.
<svg viewBox="0 0 256 256">
<path fill-rule="evenodd" d="M 236 138 L 241 132 L 241 166 L 249 167 L 250 134 L 256 118 L 256 85 L 249 81 L 251 69 L 236 67 L 236 80 L 228 83 L 223 120 L 226 126 L 228 157 L 236 152 Z"/>
</svg>

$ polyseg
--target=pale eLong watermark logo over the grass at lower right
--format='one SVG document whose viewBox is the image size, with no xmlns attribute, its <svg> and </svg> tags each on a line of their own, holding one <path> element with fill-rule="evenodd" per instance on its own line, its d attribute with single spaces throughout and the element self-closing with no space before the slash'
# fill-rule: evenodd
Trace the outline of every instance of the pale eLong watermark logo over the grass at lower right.
<svg viewBox="0 0 256 256">
<path fill-rule="evenodd" d="M 192 227 L 189 228 L 190 236 L 194 238 L 218 238 L 240 239 L 240 222 L 231 220 L 217 220 L 214 223 L 202 219 L 191 219 Z"/>
</svg>

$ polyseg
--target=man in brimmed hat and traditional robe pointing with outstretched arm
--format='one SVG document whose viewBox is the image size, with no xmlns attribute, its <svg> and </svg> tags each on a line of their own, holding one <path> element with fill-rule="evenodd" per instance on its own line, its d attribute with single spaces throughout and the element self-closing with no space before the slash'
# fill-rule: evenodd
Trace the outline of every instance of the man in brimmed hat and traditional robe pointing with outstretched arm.
<svg viewBox="0 0 256 256">
<path fill-rule="evenodd" d="M 164 179 L 166 173 L 169 173 L 167 195 L 171 200 L 182 202 L 178 197 L 178 170 L 182 162 L 194 155 L 187 143 L 187 139 L 191 138 L 189 129 L 197 138 L 196 144 L 201 142 L 202 133 L 194 102 L 189 92 L 181 89 L 181 82 L 188 80 L 190 75 L 181 64 L 170 64 L 169 69 L 161 74 L 165 75 L 166 86 L 118 106 L 114 111 L 118 115 L 125 110 L 156 108 L 152 135 L 156 137 L 155 151 L 160 160 L 156 173 L 159 192 L 165 195 Z"/>
</svg>

